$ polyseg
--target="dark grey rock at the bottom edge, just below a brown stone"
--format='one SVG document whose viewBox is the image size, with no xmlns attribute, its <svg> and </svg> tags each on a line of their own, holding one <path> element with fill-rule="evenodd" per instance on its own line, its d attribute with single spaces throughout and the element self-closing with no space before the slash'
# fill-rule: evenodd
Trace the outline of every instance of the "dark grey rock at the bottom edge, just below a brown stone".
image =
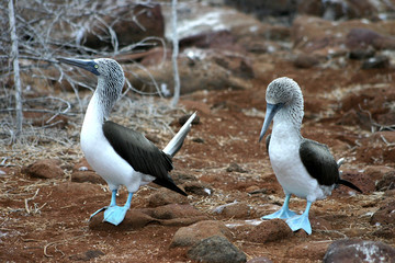
<svg viewBox="0 0 395 263">
<path fill-rule="evenodd" d="M 238 250 L 224 237 L 210 237 L 193 245 L 188 258 L 204 263 L 238 263 L 246 262 L 246 254 Z"/>
</svg>

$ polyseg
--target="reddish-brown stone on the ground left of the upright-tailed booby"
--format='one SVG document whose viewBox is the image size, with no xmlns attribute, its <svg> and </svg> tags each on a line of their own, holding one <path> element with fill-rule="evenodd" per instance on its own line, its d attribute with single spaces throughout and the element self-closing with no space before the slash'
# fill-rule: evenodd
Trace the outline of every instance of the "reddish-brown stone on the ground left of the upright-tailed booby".
<svg viewBox="0 0 395 263">
<path fill-rule="evenodd" d="M 60 161 L 54 159 L 38 160 L 22 170 L 23 173 L 37 179 L 58 179 L 65 175 Z"/>
</svg>

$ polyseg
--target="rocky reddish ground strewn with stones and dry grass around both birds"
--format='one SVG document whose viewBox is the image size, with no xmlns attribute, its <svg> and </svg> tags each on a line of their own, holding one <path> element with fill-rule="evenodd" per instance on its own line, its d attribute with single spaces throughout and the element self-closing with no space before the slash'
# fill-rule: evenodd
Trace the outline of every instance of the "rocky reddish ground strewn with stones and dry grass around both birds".
<svg viewBox="0 0 395 263">
<path fill-rule="evenodd" d="M 394 262 L 395 22 L 377 19 L 379 8 L 348 18 L 358 13 L 354 8 L 336 22 L 323 19 L 329 11 L 312 16 L 302 8 L 286 24 L 261 22 L 226 7 L 181 4 L 181 23 L 204 14 L 218 25 L 190 23 L 190 35 L 180 31 L 181 110 L 163 106 L 170 99 L 142 98 L 137 106 L 155 104 L 142 121 L 137 113 L 143 110 L 127 110 L 127 98 L 116 106 L 112 118 L 129 126 L 136 126 L 134 118 L 148 123 L 138 129 L 160 147 L 171 138 L 169 129 L 155 125 L 160 114 L 176 132 L 187 113 L 198 111 L 199 122 L 171 172 L 188 197 L 148 185 L 134 195 L 120 226 L 101 222 L 102 214 L 88 221 L 109 204 L 110 193 L 78 146 L 80 117 L 65 117 L 65 125 L 52 128 L 69 135 L 67 144 L 43 135 L 29 147 L 4 145 L 0 260 Z M 170 61 L 157 66 L 161 53 L 151 49 L 134 59 L 158 83 L 172 87 Z M 129 57 L 117 59 L 134 87 L 147 89 L 142 84 L 146 71 L 127 64 Z M 259 219 L 279 209 L 284 198 L 264 144 L 258 142 L 266 87 L 282 76 L 302 88 L 303 136 L 327 144 L 337 159 L 343 157 L 342 178 L 363 191 L 339 186 L 314 203 L 309 236 L 292 232 L 280 219 Z M 89 98 L 90 92 L 81 94 Z M 126 195 L 122 188 L 119 199 Z M 305 205 L 296 197 L 290 203 L 298 213 Z"/>
</svg>

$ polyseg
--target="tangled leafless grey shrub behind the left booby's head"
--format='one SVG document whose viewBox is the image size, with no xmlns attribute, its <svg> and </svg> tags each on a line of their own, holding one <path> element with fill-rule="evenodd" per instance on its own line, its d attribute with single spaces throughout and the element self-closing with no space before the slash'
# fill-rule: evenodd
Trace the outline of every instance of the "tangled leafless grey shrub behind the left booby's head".
<svg viewBox="0 0 395 263">
<path fill-rule="evenodd" d="M 0 26 L 10 27 L 8 19 L 9 1 L 0 0 Z M 58 64 L 57 57 L 119 57 L 133 53 L 137 47 L 165 45 L 158 37 L 147 37 L 132 45 L 122 45 L 113 30 L 114 23 L 120 19 L 114 12 L 120 8 L 134 8 L 124 1 L 91 1 L 91 0 L 19 0 L 14 2 L 15 36 L 18 37 L 16 56 L 20 67 L 22 87 L 22 108 L 24 116 L 23 133 L 19 138 L 26 144 L 37 144 L 37 140 L 53 140 L 70 146 L 71 136 L 68 130 L 54 130 L 57 117 L 67 117 L 69 124 L 79 127 L 88 95 L 80 91 L 93 90 L 95 80 L 83 71 L 72 71 Z M 144 4 L 154 4 L 145 1 Z M 138 21 L 139 13 L 128 18 L 132 23 L 144 27 Z M 113 18 L 109 23 L 104 18 Z M 94 24 L 95 36 L 110 43 L 102 48 L 90 48 L 84 45 L 84 33 L 90 31 L 89 25 Z M 13 80 L 15 66 L 11 64 L 12 41 L 9 30 L 0 32 L 0 144 L 10 145 L 15 138 L 18 124 L 15 118 L 18 100 L 15 100 L 15 81 Z M 165 56 L 165 55 L 163 55 Z M 165 59 L 165 57 L 163 57 Z M 139 66 L 138 66 L 139 67 Z M 158 85 L 151 79 L 157 93 Z M 60 83 L 60 84 L 59 84 Z M 66 87 L 66 88 L 65 88 Z M 127 81 L 127 90 L 135 91 L 134 99 L 139 98 Z M 65 92 L 64 89 L 72 91 Z M 126 98 L 124 101 L 131 100 Z M 128 105 L 134 103 L 126 102 Z M 144 103 L 143 103 L 144 104 Z M 147 103 L 145 103 L 147 104 Z M 139 105 L 140 106 L 140 105 Z M 151 107 L 151 106 L 150 106 Z M 170 107 L 169 107 L 170 108 Z M 172 111 L 172 110 L 167 111 Z M 151 112 L 150 110 L 145 111 Z M 36 125 L 29 116 L 45 115 L 42 125 Z M 44 128 L 43 128 L 44 127 Z M 166 125 L 163 126 L 167 129 Z"/>
</svg>

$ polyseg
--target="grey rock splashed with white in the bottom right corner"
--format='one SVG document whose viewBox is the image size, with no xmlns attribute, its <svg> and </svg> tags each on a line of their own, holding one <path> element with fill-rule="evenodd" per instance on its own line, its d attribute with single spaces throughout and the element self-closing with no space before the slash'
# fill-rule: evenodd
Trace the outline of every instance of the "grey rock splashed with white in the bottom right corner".
<svg viewBox="0 0 395 263">
<path fill-rule="evenodd" d="M 332 242 L 325 256 L 324 263 L 352 262 L 394 262 L 395 249 L 377 241 L 359 239 L 343 239 Z"/>
</svg>

